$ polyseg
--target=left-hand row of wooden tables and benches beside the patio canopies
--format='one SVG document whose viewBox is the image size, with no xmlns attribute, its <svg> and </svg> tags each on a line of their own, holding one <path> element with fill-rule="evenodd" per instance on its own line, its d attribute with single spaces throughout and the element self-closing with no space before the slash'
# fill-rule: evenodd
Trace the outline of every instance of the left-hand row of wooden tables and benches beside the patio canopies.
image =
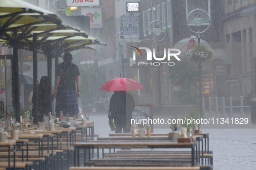
<svg viewBox="0 0 256 170">
<path fill-rule="evenodd" d="M 90 129 L 88 135 L 87 129 Z M 37 129 L 28 127 L 19 129 L 21 133 L 18 139 L 13 139 L 13 129 L 7 130 L 6 141 L 0 142 L 0 168 L 67 169 L 73 165 L 75 142 L 94 139 L 93 129 L 93 121 L 88 122 L 88 126 L 79 125 L 73 128 L 57 126 L 50 131 L 40 130 L 40 126 Z"/>
</svg>

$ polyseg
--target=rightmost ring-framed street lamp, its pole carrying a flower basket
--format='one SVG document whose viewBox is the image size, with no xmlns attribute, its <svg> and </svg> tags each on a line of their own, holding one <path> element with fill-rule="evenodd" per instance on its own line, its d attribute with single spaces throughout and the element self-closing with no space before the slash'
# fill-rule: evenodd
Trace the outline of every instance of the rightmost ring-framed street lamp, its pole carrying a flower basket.
<svg viewBox="0 0 256 170">
<path fill-rule="evenodd" d="M 194 21 L 192 21 L 192 22 L 194 22 L 194 24 L 195 24 L 196 26 L 201 26 L 201 25 L 203 24 L 203 22 L 204 22 L 204 20 L 201 18 L 201 15 L 199 14 L 199 11 L 202 11 L 203 13 L 206 13 L 206 15 L 208 16 L 208 18 L 209 18 L 209 20 L 208 20 L 209 24 L 208 24 L 207 28 L 204 29 L 204 31 L 201 31 L 201 32 L 200 32 L 199 29 L 198 29 L 198 31 L 193 31 L 193 30 L 189 27 L 189 22 L 190 22 L 190 21 L 188 21 L 188 16 L 189 16 L 192 12 L 194 12 L 194 11 L 197 11 L 197 12 L 198 12 L 198 13 L 196 14 L 195 18 L 194 18 Z M 204 10 L 199 9 L 199 8 L 192 10 L 190 13 L 188 13 L 188 16 L 187 16 L 187 21 L 186 21 L 186 22 L 187 22 L 187 26 L 188 26 L 188 28 L 189 28 L 192 32 L 194 32 L 194 33 L 196 33 L 196 34 L 198 35 L 198 46 L 200 46 L 200 33 L 205 32 L 205 31 L 209 28 L 210 22 L 211 22 L 210 16 L 208 15 L 207 12 L 205 12 Z M 201 61 L 198 62 L 198 69 L 199 69 L 199 113 L 200 113 L 200 116 L 201 116 L 201 115 L 202 115 Z"/>
</svg>

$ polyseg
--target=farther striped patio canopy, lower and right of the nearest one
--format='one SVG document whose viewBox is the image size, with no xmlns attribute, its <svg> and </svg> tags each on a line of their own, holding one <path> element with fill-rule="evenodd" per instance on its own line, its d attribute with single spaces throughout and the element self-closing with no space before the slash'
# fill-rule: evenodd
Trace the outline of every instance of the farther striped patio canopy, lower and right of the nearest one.
<svg viewBox="0 0 256 170">
<path fill-rule="evenodd" d="M 71 29 L 70 29 L 71 28 Z M 11 36 L 11 31 L 6 32 Z M 40 46 L 38 50 L 42 50 L 43 52 L 39 52 L 41 54 L 45 54 L 49 51 L 49 46 L 54 46 L 58 43 L 58 46 L 55 47 L 55 50 L 58 49 L 60 53 L 70 52 L 72 50 L 78 49 L 92 49 L 97 50 L 95 48 L 90 47 L 90 44 L 99 44 L 99 45 L 107 45 L 98 41 L 96 38 L 88 36 L 84 31 L 76 31 L 73 30 L 72 27 L 66 27 L 64 29 L 50 31 L 48 33 L 44 33 L 44 31 L 32 31 L 26 37 L 21 40 L 21 48 L 26 50 L 33 50 L 33 38 L 32 34 L 38 35 L 38 41 Z M 10 42 L 4 39 L 0 39 L 0 41 L 5 41 L 4 45 L 11 46 Z"/>
</svg>

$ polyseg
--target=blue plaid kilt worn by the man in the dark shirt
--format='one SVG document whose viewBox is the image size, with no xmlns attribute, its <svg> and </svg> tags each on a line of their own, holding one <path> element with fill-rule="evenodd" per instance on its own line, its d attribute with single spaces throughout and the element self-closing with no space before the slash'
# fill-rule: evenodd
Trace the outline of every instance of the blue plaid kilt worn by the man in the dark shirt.
<svg viewBox="0 0 256 170">
<path fill-rule="evenodd" d="M 67 114 L 79 113 L 75 90 L 58 91 L 58 97 L 56 98 L 57 116 L 59 115 L 60 111 Z"/>
</svg>

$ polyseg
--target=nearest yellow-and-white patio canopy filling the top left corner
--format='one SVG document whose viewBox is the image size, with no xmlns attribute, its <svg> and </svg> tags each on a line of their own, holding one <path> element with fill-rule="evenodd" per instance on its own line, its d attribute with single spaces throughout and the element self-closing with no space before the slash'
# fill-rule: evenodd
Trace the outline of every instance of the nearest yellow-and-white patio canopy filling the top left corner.
<svg viewBox="0 0 256 170">
<path fill-rule="evenodd" d="M 6 35 L 9 41 L 19 41 L 31 31 L 54 30 L 61 24 L 62 20 L 55 13 L 38 6 L 21 0 L 0 1 L 0 37 L 6 35 L 6 31 L 13 31 L 16 35 L 15 38 Z"/>
</svg>

